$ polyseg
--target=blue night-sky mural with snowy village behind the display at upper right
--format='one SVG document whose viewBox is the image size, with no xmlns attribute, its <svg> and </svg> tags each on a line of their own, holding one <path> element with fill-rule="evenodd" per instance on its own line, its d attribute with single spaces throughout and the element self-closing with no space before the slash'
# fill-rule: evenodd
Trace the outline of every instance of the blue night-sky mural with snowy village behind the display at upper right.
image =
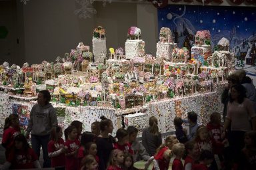
<svg viewBox="0 0 256 170">
<path fill-rule="evenodd" d="M 211 32 L 211 45 L 225 37 L 237 57 L 237 69 L 245 69 L 256 84 L 256 11 L 253 7 L 168 5 L 158 9 L 158 30 L 169 27 L 179 48 L 193 46 L 195 33 Z"/>
</svg>

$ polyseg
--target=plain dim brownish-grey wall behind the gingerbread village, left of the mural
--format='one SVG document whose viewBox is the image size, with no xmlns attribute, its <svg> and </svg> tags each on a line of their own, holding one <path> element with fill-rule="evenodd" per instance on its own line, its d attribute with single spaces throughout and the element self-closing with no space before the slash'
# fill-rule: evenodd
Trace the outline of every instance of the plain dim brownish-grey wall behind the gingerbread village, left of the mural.
<svg viewBox="0 0 256 170">
<path fill-rule="evenodd" d="M 79 19 L 73 13 L 78 7 L 75 1 L 29 1 L 23 7 L 25 60 L 29 64 L 51 62 L 81 41 L 92 50 L 93 29 L 98 25 L 106 30 L 107 48 L 124 47 L 128 28 L 137 26 L 137 4 L 111 3 L 103 7 L 102 2 L 95 2 L 93 6 L 96 15 Z"/>
</svg>

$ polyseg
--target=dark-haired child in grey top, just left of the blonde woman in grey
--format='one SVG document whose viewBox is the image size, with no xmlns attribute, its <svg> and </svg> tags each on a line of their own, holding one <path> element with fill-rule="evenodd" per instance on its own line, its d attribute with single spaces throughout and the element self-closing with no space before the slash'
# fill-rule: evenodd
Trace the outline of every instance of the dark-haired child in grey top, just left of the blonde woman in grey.
<svg viewBox="0 0 256 170">
<path fill-rule="evenodd" d="M 138 129 L 134 126 L 129 126 L 127 131 L 129 133 L 129 143 L 131 145 L 131 149 L 133 150 L 133 161 L 147 161 L 150 158 L 149 154 L 142 143 L 136 140 Z"/>
</svg>

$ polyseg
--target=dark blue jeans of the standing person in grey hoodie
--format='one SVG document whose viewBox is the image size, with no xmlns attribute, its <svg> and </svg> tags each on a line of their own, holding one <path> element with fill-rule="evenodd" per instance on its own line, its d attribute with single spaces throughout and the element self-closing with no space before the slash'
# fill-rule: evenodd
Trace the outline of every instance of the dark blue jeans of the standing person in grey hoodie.
<svg viewBox="0 0 256 170">
<path fill-rule="evenodd" d="M 48 156 L 47 145 L 49 142 L 50 135 L 31 135 L 32 149 L 40 157 L 40 149 L 43 149 L 43 167 L 51 167 L 51 159 Z"/>
</svg>

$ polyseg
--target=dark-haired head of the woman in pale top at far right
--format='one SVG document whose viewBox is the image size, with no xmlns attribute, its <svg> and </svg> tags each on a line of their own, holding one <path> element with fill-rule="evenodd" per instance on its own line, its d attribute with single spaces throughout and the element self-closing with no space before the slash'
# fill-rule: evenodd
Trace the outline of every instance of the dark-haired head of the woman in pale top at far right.
<svg viewBox="0 0 256 170">
<path fill-rule="evenodd" d="M 243 103 L 246 97 L 246 90 L 241 84 L 236 84 L 231 87 L 231 96 L 229 102 L 237 101 L 239 104 Z"/>
</svg>

